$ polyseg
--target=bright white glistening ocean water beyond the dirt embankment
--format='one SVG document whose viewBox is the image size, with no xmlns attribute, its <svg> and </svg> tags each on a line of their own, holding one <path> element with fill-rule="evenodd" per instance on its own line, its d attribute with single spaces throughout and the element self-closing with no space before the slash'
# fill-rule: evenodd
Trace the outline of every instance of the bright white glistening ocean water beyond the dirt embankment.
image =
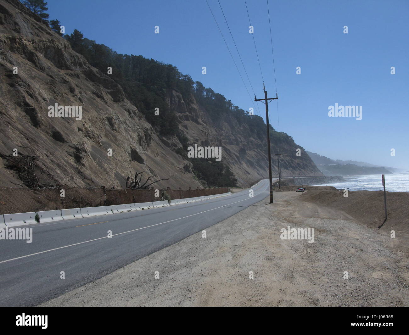
<svg viewBox="0 0 409 335">
<path fill-rule="evenodd" d="M 383 191 L 382 175 L 353 175 L 344 177 L 345 182 L 319 184 L 333 186 L 350 191 Z M 393 173 L 385 175 L 385 187 L 389 192 L 409 192 L 409 173 Z"/>
</svg>

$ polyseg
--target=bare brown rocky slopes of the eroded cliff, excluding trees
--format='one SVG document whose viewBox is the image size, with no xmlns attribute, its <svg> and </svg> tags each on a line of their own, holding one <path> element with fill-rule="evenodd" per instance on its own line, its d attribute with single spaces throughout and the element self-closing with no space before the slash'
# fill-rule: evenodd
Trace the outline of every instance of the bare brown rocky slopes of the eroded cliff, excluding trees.
<svg viewBox="0 0 409 335">
<path fill-rule="evenodd" d="M 118 188 L 130 171 L 142 170 L 172 177 L 160 187 L 203 186 L 192 164 L 175 152 L 183 147 L 180 137 L 159 135 L 118 83 L 17 0 L 0 0 L 0 78 L 0 187 Z M 176 89 L 167 90 L 166 103 L 189 144 L 222 147 L 222 162 L 239 185 L 268 175 L 265 135 L 226 115 L 214 121 Z M 82 106 L 81 119 L 49 117 L 55 104 Z M 285 175 L 322 175 L 290 136 L 271 137 Z"/>
</svg>

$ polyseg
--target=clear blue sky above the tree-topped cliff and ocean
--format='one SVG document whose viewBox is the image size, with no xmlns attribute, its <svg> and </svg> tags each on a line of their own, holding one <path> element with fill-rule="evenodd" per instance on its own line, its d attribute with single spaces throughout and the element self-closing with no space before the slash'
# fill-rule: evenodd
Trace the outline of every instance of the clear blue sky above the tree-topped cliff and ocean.
<svg viewBox="0 0 409 335">
<path fill-rule="evenodd" d="M 253 106 L 253 90 L 218 0 L 208 2 L 251 99 L 206 0 L 47 2 L 49 19 L 60 20 L 66 33 L 79 29 L 118 53 L 170 63 L 240 108 Z M 220 4 L 260 99 L 263 81 L 245 2 Z M 273 97 L 267 2 L 247 0 L 247 7 L 266 90 Z M 269 7 L 279 94 L 279 115 L 276 101 L 269 104 L 272 126 L 320 155 L 409 169 L 409 1 L 269 0 Z M 155 26 L 160 34 L 154 33 Z M 203 66 L 207 74 L 202 74 Z M 298 66 L 301 74 L 296 74 Z M 391 74 L 392 66 L 396 74 Z M 362 106 L 362 120 L 328 117 L 328 107 L 336 103 Z M 258 108 L 265 115 L 264 104 Z"/>
</svg>

